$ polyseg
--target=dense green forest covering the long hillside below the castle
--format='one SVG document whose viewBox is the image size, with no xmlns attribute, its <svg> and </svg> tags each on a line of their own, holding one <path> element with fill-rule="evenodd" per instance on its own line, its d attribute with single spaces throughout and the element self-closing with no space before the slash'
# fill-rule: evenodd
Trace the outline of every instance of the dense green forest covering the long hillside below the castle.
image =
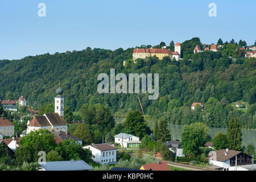
<svg viewBox="0 0 256 182">
<path fill-rule="evenodd" d="M 79 111 L 84 104 L 100 103 L 108 105 L 114 114 L 126 114 L 141 109 L 140 97 L 144 112 L 156 119 L 183 125 L 203 122 L 212 127 L 228 127 L 230 118 L 238 117 L 242 127 L 256 128 L 256 59 L 241 57 L 245 52 L 237 49 L 240 45 L 236 43 L 225 43 L 218 52 L 193 54 L 195 45 L 202 48 L 199 38 L 182 43 L 183 59 L 179 61 L 150 57 L 133 63 L 133 48 L 111 51 L 89 47 L 1 60 L 0 99 L 18 100 L 22 95 L 28 105 L 40 109 L 54 102 L 60 80 L 65 105 L 72 111 Z M 167 48 L 172 49 L 173 43 Z M 159 73 L 158 100 L 148 100 L 147 94 L 99 94 L 97 76 L 109 75 L 110 68 L 115 68 L 116 74 Z M 245 103 L 246 108 L 234 107 L 238 101 Z M 204 110 L 199 107 L 191 110 L 193 102 L 204 104 Z"/>
</svg>

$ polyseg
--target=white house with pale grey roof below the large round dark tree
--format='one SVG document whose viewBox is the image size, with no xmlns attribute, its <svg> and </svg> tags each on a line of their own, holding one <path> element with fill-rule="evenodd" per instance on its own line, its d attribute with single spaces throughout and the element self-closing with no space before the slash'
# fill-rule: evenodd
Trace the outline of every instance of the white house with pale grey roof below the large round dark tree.
<svg viewBox="0 0 256 182">
<path fill-rule="evenodd" d="M 135 137 L 131 134 L 119 133 L 114 136 L 115 143 L 121 144 L 121 147 L 131 148 L 131 147 L 139 147 L 141 141 L 139 141 L 139 137 Z"/>
</svg>

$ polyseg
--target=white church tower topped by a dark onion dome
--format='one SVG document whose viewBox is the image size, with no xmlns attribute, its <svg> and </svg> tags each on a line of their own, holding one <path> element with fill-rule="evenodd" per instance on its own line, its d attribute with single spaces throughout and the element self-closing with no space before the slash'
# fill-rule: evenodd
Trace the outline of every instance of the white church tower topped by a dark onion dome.
<svg viewBox="0 0 256 182">
<path fill-rule="evenodd" d="M 56 93 L 58 94 L 54 100 L 55 100 L 55 113 L 58 113 L 60 117 L 64 118 L 64 97 L 61 96 L 63 94 L 64 90 L 60 88 L 60 82 L 59 82 L 59 88 L 56 89 Z"/>
</svg>

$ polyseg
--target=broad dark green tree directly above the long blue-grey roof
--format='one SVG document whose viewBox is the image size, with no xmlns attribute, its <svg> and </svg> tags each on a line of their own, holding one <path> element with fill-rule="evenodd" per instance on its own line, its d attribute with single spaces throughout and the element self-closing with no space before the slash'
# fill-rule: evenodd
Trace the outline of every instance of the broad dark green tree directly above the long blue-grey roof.
<svg viewBox="0 0 256 182">
<path fill-rule="evenodd" d="M 61 155 L 63 160 L 84 160 L 86 163 L 92 162 L 92 152 L 83 149 L 81 144 L 73 139 L 63 140 L 55 151 Z"/>
</svg>

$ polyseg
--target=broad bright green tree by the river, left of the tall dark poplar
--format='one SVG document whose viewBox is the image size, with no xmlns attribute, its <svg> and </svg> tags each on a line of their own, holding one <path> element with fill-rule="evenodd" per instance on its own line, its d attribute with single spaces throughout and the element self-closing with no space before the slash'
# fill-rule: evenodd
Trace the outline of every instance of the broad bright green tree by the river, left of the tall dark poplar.
<svg viewBox="0 0 256 182">
<path fill-rule="evenodd" d="M 208 140 L 209 129 L 204 123 L 192 123 L 183 126 L 181 133 L 181 144 L 183 152 L 188 156 L 195 156 L 200 153 L 200 146 Z"/>
</svg>

